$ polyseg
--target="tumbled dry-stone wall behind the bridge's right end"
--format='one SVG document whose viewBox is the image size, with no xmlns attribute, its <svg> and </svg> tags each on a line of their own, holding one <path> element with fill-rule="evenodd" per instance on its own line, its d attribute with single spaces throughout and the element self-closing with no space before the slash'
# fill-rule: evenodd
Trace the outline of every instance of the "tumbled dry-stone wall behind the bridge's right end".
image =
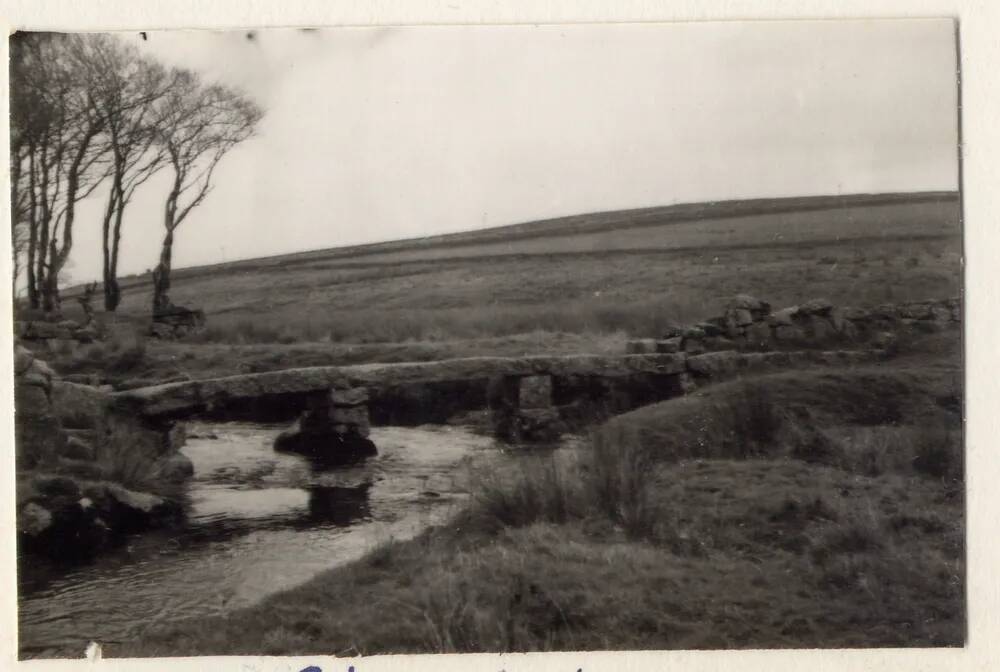
<svg viewBox="0 0 1000 672">
<path fill-rule="evenodd" d="M 669 330 L 662 338 L 629 341 L 629 354 L 720 350 L 809 349 L 848 343 L 889 346 L 902 333 L 933 333 L 962 320 L 959 298 L 882 304 L 874 308 L 837 307 L 825 299 L 771 310 L 747 294 L 729 301 L 725 312 L 704 322 Z"/>
</svg>

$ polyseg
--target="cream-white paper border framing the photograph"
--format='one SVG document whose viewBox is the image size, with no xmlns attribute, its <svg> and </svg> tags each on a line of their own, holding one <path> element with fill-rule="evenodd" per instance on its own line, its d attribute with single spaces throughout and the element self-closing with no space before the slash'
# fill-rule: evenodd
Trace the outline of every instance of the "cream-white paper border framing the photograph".
<svg viewBox="0 0 1000 672">
<path fill-rule="evenodd" d="M 859 19 L 954 17 L 959 20 L 962 63 L 963 202 L 965 224 L 965 339 L 967 447 L 968 644 L 964 649 L 775 650 L 641 653 L 551 653 L 508 655 L 377 656 L 335 659 L 201 657 L 101 661 L 16 662 L 14 580 L 14 457 L 12 329 L 10 295 L 0 292 L 0 670 L 243 670 L 298 672 L 315 665 L 323 672 L 381 670 L 988 670 L 1000 669 L 1000 461 L 993 448 L 1000 436 L 1000 379 L 995 340 L 1000 337 L 1000 2 L 997 0 L 626 0 L 508 2 L 496 0 L 0 0 L 0 23 L 13 29 L 111 30 L 155 28 L 266 28 L 416 24 L 538 24 L 704 20 Z M 6 62 L 6 41 L 0 46 Z M 7 69 L 0 69 L 6 90 Z M 0 96 L 7 120 L 8 101 Z M 905 104 L 905 101 L 901 101 Z M 0 155 L 9 153 L 6 128 Z M 9 226 L 9 188 L 0 212 Z M 0 269 L 10 273 L 9 236 L 0 237 Z"/>
</svg>

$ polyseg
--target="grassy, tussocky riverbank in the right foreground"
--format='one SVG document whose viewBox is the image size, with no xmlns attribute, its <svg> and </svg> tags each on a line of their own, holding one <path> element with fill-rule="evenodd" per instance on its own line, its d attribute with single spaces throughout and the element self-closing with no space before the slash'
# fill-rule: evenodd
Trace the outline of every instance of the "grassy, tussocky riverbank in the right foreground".
<svg viewBox="0 0 1000 672">
<path fill-rule="evenodd" d="M 961 646 L 960 343 L 911 345 L 620 416 L 447 525 L 105 654 Z"/>
</svg>

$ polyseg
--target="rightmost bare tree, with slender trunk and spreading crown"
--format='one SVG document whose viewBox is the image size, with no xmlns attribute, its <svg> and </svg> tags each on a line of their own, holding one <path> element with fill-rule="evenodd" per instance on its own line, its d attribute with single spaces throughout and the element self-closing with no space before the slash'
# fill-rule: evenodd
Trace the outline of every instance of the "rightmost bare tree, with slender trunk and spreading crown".
<svg viewBox="0 0 1000 672">
<path fill-rule="evenodd" d="M 163 110 L 159 138 L 173 181 L 164 204 L 166 233 L 160 261 L 153 269 L 153 317 L 169 313 L 170 270 L 174 235 L 191 211 L 212 189 L 219 161 L 250 137 L 262 112 L 241 93 L 219 85 L 203 85 L 187 70 L 171 75 L 171 86 L 159 100 Z"/>
</svg>

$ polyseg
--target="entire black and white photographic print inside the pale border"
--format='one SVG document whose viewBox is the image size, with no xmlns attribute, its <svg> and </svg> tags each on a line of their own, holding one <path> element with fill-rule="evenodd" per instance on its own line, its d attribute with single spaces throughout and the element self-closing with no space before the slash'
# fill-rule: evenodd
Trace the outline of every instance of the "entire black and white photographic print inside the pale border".
<svg viewBox="0 0 1000 672">
<path fill-rule="evenodd" d="M 954 18 L 70 28 L 21 660 L 967 645 Z"/>
</svg>

